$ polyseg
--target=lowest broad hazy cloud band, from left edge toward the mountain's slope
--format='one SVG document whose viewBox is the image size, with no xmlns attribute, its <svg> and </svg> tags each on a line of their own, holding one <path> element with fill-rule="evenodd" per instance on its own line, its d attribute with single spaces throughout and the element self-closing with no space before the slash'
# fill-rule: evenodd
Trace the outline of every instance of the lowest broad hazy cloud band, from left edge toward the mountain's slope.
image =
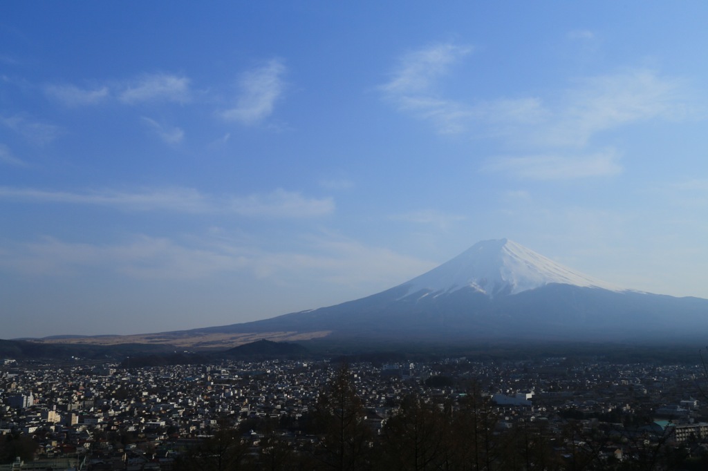
<svg viewBox="0 0 708 471">
<path fill-rule="evenodd" d="M 383 289 L 434 265 L 337 237 L 312 238 L 304 250 L 290 252 L 209 237 L 186 244 L 144 235 L 113 245 L 46 237 L 0 250 L 0 267 L 33 276 L 80 277 L 101 269 L 132 279 L 196 280 L 245 274 L 278 284 L 309 276 L 329 285 L 382 284 Z"/>
</svg>

